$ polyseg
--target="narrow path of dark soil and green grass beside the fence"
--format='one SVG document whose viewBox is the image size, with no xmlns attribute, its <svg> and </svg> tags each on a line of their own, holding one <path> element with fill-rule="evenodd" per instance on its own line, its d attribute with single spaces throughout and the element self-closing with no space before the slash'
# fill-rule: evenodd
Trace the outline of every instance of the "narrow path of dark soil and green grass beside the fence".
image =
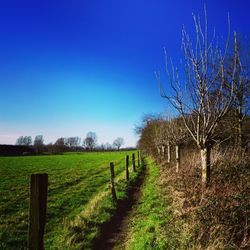
<svg viewBox="0 0 250 250">
<path fill-rule="evenodd" d="M 160 169 L 151 159 L 145 163 L 143 178 L 103 227 L 94 250 L 160 250 L 171 246 L 165 230 L 171 216 L 158 185 Z"/>
</svg>

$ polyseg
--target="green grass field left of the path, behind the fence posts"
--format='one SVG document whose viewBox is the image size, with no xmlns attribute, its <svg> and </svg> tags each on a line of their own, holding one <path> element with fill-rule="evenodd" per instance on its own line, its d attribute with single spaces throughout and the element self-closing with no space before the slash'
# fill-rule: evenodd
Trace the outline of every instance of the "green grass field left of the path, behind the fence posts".
<svg viewBox="0 0 250 250">
<path fill-rule="evenodd" d="M 132 153 L 0 157 L 0 249 L 27 246 L 29 177 L 32 173 L 49 175 L 45 248 L 61 249 L 60 244 L 65 248 L 69 244 L 72 245 L 70 249 L 74 249 L 73 245 L 81 241 L 74 236 L 77 230 L 89 228 L 87 224 L 91 224 L 91 220 L 92 224 L 108 220 L 114 209 L 108 190 L 109 162 L 115 163 L 117 180 L 123 180 L 124 158 Z M 124 183 L 119 185 L 118 197 L 121 198 Z M 96 227 L 98 223 L 94 223 Z M 97 234 L 96 228 L 85 232 L 86 246 Z"/>
</svg>

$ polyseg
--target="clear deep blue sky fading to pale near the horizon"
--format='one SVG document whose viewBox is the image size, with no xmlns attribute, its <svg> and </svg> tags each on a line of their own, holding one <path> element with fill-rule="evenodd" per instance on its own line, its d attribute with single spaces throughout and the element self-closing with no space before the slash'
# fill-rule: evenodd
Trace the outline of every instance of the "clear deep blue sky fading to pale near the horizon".
<svg viewBox="0 0 250 250">
<path fill-rule="evenodd" d="M 210 28 L 249 34 L 246 0 L 207 1 Z M 1 1 L 0 143 L 20 135 L 84 137 L 99 143 L 124 137 L 134 146 L 134 125 L 162 112 L 155 70 L 163 47 L 181 53 L 181 28 L 193 32 L 191 13 L 203 1 Z"/>
</svg>

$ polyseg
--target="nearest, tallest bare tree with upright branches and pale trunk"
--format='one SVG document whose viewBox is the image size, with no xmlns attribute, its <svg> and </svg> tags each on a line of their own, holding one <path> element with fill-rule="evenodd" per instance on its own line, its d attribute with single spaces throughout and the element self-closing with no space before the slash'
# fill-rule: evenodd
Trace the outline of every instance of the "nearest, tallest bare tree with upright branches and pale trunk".
<svg viewBox="0 0 250 250">
<path fill-rule="evenodd" d="M 171 91 L 167 93 L 163 89 L 157 74 L 161 96 L 167 98 L 179 112 L 190 136 L 200 149 L 203 187 L 207 186 L 210 180 L 210 152 L 215 129 L 227 114 L 233 101 L 235 75 L 234 63 L 232 77 L 226 81 L 225 56 L 229 38 L 223 49 L 219 49 L 215 37 L 209 41 L 206 9 L 204 13 L 204 29 L 201 28 L 199 16 L 193 16 L 196 30 L 195 43 L 192 43 L 185 28 L 182 31 L 185 80 L 181 80 L 181 74 L 172 62 L 169 64 L 167 56 L 166 71 Z M 234 40 L 236 42 L 236 36 Z"/>
</svg>

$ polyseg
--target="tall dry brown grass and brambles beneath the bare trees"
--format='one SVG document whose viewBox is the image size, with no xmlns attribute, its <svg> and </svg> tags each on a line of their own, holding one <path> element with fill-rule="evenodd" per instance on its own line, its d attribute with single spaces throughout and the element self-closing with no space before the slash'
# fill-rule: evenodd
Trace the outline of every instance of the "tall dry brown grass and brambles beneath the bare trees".
<svg viewBox="0 0 250 250">
<path fill-rule="evenodd" d="M 212 176 L 202 192 L 199 152 L 183 148 L 180 173 L 161 164 L 160 185 L 173 219 L 176 249 L 250 249 L 250 154 L 212 150 Z"/>
</svg>

